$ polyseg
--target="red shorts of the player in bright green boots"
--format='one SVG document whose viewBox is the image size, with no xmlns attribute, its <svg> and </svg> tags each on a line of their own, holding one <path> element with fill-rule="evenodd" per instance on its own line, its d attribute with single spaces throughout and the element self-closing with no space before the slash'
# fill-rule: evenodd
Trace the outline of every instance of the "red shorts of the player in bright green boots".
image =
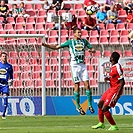
<svg viewBox="0 0 133 133">
<path fill-rule="evenodd" d="M 118 97 L 116 102 L 112 103 L 112 99 L 115 97 L 116 92 L 111 92 L 110 89 L 112 90 L 112 88 L 109 88 L 103 93 L 101 100 L 104 101 L 104 105 L 114 107 L 120 96 Z"/>
</svg>

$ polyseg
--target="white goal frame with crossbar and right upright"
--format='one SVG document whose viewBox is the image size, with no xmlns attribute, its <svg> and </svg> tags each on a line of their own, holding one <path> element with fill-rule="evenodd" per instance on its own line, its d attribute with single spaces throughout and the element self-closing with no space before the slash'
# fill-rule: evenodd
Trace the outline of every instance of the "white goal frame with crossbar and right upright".
<svg viewBox="0 0 133 133">
<path fill-rule="evenodd" d="M 0 38 L 41 38 L 45 41 L 43 34 L 0 34 Z M 45 47 L 41 46 L 42 52 L 42 115 L 46 115 L 46 90 L 45 90 Z"/>
</svg>

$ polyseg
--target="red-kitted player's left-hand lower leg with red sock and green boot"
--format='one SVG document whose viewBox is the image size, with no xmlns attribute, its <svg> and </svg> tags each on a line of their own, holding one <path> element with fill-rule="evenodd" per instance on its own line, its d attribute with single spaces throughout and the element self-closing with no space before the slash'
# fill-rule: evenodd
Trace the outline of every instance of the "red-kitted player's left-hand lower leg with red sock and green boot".
<svg viewBox="0 0 133 133">
<path fill-rule="evenodd" d="M 104 114 L 102 111 L 104 101 L 100 99 L 98 103 L 98 118 L 99 118 L 99 123 L 97 125 L 92 126 L 93 129 L 98 129 L 98 128 L 105 128 L 104 124 Z"/>
</svg>

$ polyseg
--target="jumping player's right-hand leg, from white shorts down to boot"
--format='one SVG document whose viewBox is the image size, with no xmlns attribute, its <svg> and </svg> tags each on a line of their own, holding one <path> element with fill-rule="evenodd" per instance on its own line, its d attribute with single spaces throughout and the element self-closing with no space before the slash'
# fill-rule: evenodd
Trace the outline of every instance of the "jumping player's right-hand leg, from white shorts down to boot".
<svg viewBox="0 0 133 133">
<path fill-rule="evenodd" d="M 94 109 L 92 107 L 92 92 L 89 84 L 89 76 L 87 72 L 87 67 L 85 64 L 82 64 L 82 71 L 81 71 L 81 79 L 84 82 L 84 87 L 86 89 L 86 96 L 88 100 L 88 109 L 90 110 L 91 113 L 94 113 Z"/>
</svg>

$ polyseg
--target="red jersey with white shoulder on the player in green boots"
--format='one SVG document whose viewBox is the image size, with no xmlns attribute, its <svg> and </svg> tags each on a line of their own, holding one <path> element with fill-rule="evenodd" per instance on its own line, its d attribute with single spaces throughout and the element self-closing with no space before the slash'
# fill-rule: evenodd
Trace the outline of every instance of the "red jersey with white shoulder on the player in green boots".
<svg viewBox="0 0 133 133">
<path fill-rule="evenodd" d="M 123 77 L 123 69 L 119 63 L 113 65 L 110 69 L 110 87 L 113 88 L 113 92 L 116 92 L 120 86 L 120 79 Z"/>
</svg>

